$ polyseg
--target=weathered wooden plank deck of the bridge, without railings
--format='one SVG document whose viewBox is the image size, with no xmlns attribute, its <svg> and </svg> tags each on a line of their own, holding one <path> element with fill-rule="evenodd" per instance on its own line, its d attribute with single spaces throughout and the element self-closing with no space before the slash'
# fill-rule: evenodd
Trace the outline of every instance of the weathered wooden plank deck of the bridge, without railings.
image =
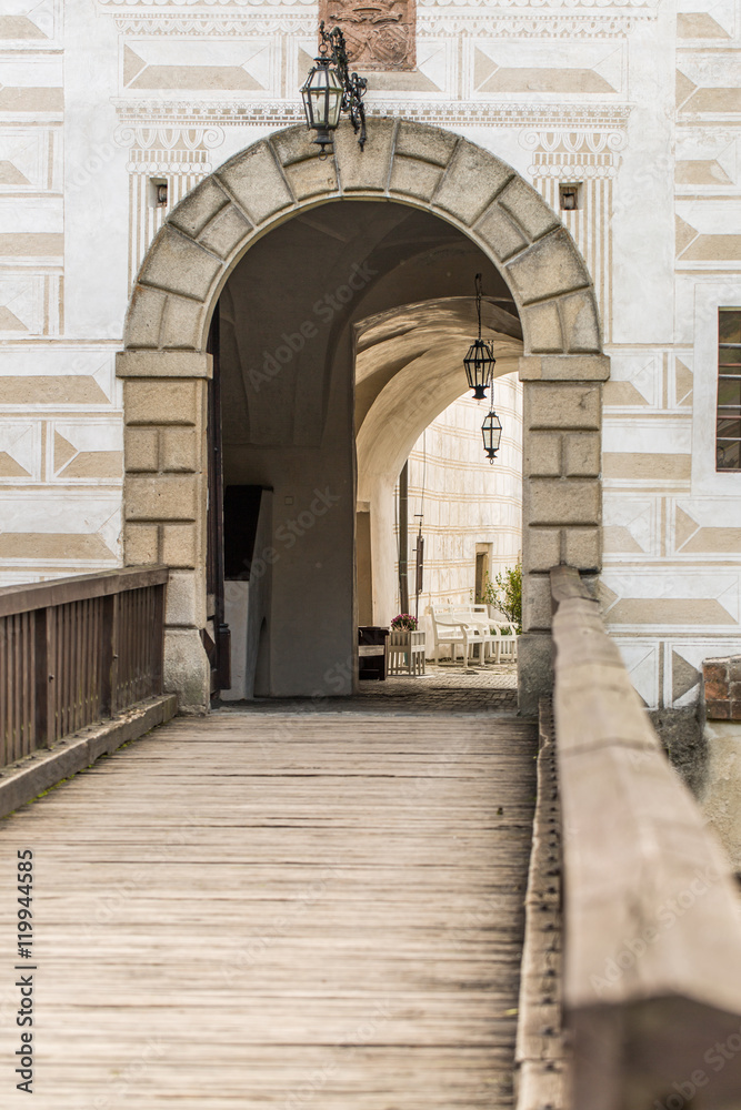
<svg viewBox="0 0 741 1110">
<path fill-rule="evenodd" d="M 503 1110 L 534 794 L 505 717 L 179 718 L 0 825 L 0 1106 Z M 28 961 L 26 961 L 28 962 Z"/>
</svg>

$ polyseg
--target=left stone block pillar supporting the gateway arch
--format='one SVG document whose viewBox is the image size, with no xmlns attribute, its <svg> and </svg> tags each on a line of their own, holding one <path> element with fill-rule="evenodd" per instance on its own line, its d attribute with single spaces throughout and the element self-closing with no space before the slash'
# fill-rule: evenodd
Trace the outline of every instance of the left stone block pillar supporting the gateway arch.
<svg viewBox="0 0 741 1110">
<path fill-rule="evenodd" d="M 211 672 L 201 640 L 207 623 L 207 379 L 211 356 L 127 351 L 123 379 L 126 566 L 170 567 L 164 689 L 181 713 L 207 713 Z"/>
</svg>

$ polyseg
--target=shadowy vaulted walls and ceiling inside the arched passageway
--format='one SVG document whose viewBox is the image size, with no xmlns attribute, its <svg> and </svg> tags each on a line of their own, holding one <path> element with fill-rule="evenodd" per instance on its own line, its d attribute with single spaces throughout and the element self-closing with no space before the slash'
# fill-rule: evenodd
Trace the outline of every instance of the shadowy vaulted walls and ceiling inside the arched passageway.
<svg viewBox="0 0 741 1110">
<path fill-rule="evenodd" d="M 227 282 L 224 596 L 244 696 L 352 692 L 356 536 L 372 616 L 388 620 L 394 483 L 423 428 L 465 387 L 479 272 L 495 373 L 511 373 L 522 333 L 508 286 L 429 212 L 320 205 L 254 244 Z"/>
</svg>

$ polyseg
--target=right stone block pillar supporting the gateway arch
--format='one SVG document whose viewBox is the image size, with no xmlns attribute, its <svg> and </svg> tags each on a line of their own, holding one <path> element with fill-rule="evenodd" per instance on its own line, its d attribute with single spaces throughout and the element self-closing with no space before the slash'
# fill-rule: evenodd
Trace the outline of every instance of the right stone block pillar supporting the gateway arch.
<svg viewBox="0 0 741 1110">
<path fill-rule="evenodd" d="M 520 712 L 538 712 L 553 686 L 548 572 L 602 566 L 604 355 L 520 359 L 523 382 L 522 638 Z"/>
</svg>

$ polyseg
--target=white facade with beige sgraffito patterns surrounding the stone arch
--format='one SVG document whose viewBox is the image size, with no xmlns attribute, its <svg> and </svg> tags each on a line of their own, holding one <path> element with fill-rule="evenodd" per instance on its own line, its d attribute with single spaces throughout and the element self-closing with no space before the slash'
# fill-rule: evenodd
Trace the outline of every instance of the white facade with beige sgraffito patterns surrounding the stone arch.
<svg viewBox="0 0 741 1110">
<path fill-rule="evenodd" d="M 113 355 L 163 215 L 151 179 L 168 182 L 171 206 L 299 121 L 317 26 L 303 2 L 11 0 L 8 11 L 3 584 L 120 563 Z M 373 112 L 405 115 L 491 150 L 554 206 L 560 181 L 581 182 L 564 222 L 612 356 L 607 617 L 647 704 L 691 704 L 700 660 L 741 650 L 741 475 L 713 470 L 717 310 L 741 304 L 738 6 L 420 0 L 417 38 L 414 72 L 377 77 L 375 90 L 369 74 L 370 144 Z"/>
</svg>

